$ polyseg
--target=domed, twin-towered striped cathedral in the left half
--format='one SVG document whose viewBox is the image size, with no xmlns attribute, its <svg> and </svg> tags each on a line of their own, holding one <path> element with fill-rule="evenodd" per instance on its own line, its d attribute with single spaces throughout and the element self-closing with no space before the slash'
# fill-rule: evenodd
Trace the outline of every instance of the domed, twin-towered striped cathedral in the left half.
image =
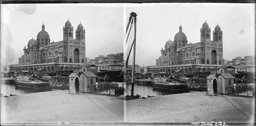
<svg viewBox="0 0 256 126">
<path fill-rule="evenodd" d="M 30 39 L 24 46 L 24 55 L 19 58 L 19 65 L 38 63 L 86 63 L 85 57 L 85 29 L 80 24 L 75 30 L 70 21 L 63 26 L 63 40 L 50 42 L 50 36 L 42 25 L 42 31 L 36 39 Z"/>
</svg>

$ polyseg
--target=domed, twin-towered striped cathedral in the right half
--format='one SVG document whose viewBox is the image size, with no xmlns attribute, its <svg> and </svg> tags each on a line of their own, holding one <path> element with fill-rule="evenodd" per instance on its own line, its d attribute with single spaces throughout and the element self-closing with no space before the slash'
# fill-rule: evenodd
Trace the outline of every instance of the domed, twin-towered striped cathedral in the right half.
<svg viewBox="0 0 256 126">
<path fill-rule="evenodd" d="M 188 43 L 186 34 L 182 32 L 180 25 L 179 32 L 174 40 L 168 40 L 161 49 L 161 56 L 156 59 L 156 66 L 170 66 L 182 64 L 216 64 L 223 65 L 222 30 L 217 24 L 213 31 L 211 40 L 211 28 L 203 23 L 200 29 L 201 41 Z"/>
</svg>

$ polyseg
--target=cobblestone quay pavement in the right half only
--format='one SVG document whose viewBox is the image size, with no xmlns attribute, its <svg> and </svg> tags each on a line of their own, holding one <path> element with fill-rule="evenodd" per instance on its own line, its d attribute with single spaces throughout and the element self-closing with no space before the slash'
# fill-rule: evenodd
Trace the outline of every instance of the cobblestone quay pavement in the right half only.
<svg viewBox="0 0 256 126">
<path fill-rule="evenodd" d="M 125 122 L 254 122 L 254 98 L 194 92 L 125 102 Z"/>
</svg>

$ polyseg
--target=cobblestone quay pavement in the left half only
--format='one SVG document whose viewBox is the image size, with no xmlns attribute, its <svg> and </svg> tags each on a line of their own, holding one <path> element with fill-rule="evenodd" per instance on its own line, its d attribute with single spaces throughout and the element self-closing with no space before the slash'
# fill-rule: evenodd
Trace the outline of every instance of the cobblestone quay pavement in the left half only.
<svg viewBox="0 0 256 126">
<path fill-rule="evenodd" d="M 1 97 L 5 122 L 123 122 L 123 100 L 68 90 Z"/>
</svg>

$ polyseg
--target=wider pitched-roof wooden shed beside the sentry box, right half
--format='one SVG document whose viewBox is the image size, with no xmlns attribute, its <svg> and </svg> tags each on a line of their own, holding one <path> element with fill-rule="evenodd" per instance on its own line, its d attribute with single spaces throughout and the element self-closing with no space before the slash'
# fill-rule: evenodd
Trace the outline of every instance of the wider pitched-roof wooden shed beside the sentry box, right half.
<svg viewBox="0 0 256 126">
<path fill-rule="evenodd" d="M 217 76 L 217 78 L 218 78 L 217 88 L 218 88 L 219 94 L 225 94 L 225 88 L 234 87 L 235 77 L 233 77 L 230 73 L 220 73 Z"/>
</svg>

